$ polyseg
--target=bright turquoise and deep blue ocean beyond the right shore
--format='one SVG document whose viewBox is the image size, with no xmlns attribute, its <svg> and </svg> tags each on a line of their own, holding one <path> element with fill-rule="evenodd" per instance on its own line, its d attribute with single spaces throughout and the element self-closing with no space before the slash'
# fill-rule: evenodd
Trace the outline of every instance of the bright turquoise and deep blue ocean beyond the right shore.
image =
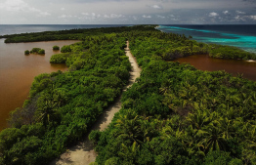
<svg viewBox="0 0 256 165">
<path fill-rule="evenodd" d="M 185 34 L 204 42 L 229 45 L 256 53 L 256 24 L 242 25 L 160 25 L 159 30 Z"/>
</svg>

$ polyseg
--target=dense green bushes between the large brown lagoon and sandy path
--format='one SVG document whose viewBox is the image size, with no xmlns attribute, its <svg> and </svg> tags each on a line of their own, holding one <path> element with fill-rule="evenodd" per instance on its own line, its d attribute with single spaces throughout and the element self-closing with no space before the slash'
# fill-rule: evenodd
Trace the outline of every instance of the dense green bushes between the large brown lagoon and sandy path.
<svg viewBox="0 0 256 165">
<path fill-rule="evenodd" d="M 29 100 L 0 133 L 0 164 L 46 164 L 80 140 L 129 78 L 125 38 L 89 36 L 70 46 L 67 72 L 34 78 Z"/>
</svg>

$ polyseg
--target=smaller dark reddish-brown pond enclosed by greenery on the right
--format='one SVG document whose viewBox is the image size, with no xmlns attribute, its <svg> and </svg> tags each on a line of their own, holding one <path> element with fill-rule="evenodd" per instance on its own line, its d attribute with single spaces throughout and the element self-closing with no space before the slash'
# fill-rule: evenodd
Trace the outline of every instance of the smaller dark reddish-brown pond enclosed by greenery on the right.
<svg viewBox="0 0 256 165">
<path fill-rule="evenodd" d="M 256 62 L 213 59 L 207 55 L 189 56 L 175 62 L 188 62 L 200 70 L 225 70 L 233 75 L 242 73 L 244 78 L 256 81 Z"/>
</svg>

